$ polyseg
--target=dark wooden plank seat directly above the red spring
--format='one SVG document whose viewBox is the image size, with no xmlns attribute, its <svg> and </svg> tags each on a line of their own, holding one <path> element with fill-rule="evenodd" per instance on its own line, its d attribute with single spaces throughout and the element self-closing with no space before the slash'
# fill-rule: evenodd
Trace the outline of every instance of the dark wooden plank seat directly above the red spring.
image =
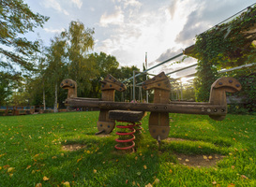
<svg viewBox="0 0 256 187">
<path fill-rule="evenodd" d="M 143 119 L 143 111 L 110 110 L 109 118 L 122 122 L 139 122 Z"/>
</svg>

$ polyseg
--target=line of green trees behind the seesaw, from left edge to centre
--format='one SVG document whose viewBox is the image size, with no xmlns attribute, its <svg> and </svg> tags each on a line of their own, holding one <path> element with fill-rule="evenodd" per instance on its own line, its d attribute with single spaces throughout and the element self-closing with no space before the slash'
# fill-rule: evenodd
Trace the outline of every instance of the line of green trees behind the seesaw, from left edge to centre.
<svg viewBox="0 0 256 187">
<path fill-rule="evenodd" d="M 49 18 L 33 13 L 23 0 L 0 4 L 0 106 L 43 105 L 56 110 L 67 97 L 67 91 L 59 89 L 63 79 L 78 83 L 79 96 L 100 97 L 100 79 L 112 74 L 124 80 L 133 70 L 139 71 L 136 66 L 120 67 L 114 56 L 104 52 L 92 53 L 95 31 L 83 22 L 70 22 L 49 47 L 40 39 L 29 41 L 21 36 L 43 27 Z M 129 93 L 126 96 L 130 99 Z"/>
</svg>

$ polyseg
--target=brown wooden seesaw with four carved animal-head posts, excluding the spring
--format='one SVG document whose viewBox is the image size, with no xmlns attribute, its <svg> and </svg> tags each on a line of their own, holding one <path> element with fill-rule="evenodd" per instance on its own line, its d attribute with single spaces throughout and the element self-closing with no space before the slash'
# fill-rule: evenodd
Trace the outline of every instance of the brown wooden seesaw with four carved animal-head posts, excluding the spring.
<svg viewBox="0 0 256 187">
<path fill-rule="evenodd" d="M 158 141 L 168 137 L 170 132 L 169 113 L 209 115 L 216 121 L 224 120 L 227 114 L 226 93 L 235 93 L 242 86 L 236 79 L 223 77 L 211 86 L 209 102 L 172 102 L 170 101 L 171 84 L 162 72 L 143 82 L 143 89 L 154 89 L 153 103 L 114 102 L 114 92 L 124 92 L 127 87 L 108 75 L 101 82 L 101 99 L 77 97 L 77 83 L 64 79 L 61 87 L 68 89 L 65 103 L 68 107 L 99 108 L 98 133 L 110 134 L 115 127 L 115 120 L 137 122 L 143 118 L 143 112 L 149 111 L 149 132 Z"/>
</svg>

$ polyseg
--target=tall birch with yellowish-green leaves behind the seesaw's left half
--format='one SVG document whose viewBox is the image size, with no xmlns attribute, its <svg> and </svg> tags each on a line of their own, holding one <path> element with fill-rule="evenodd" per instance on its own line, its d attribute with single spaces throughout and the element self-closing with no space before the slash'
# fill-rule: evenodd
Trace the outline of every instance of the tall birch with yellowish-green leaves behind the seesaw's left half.
<svg viewBox="0 0 256 187">
<path fill-rule="evenodd" d="M 78 94 L 88 94 L 90 79 L 96 77 L 95 62 L 86 61 L 87 52 L 94 46 L 94 30 L 84 28 L 83 22 L 70 22 L 68 31 L 62 33 L 67 44 L 68 78 L 74 79 L 80 86 Z"/>
</svg>

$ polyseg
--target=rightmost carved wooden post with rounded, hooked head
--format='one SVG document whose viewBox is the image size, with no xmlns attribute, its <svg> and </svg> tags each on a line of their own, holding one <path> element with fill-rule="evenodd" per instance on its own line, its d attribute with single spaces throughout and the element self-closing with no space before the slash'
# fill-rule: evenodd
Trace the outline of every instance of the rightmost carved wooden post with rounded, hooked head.
<svg viewBox="0 0 256 187">
<path fill-rule="evenodd" d="M 236 93 L 242 89 L 240 82 L 234 78 L 222 77 L 211 86 L 209 103 L 217 106 L 227 106 L 226 93 Z M 227 113 L 227 111 L 223 111 Z M 225 116 L 209 115 L 213 120 L 221 121 Z"/>
</svg>

